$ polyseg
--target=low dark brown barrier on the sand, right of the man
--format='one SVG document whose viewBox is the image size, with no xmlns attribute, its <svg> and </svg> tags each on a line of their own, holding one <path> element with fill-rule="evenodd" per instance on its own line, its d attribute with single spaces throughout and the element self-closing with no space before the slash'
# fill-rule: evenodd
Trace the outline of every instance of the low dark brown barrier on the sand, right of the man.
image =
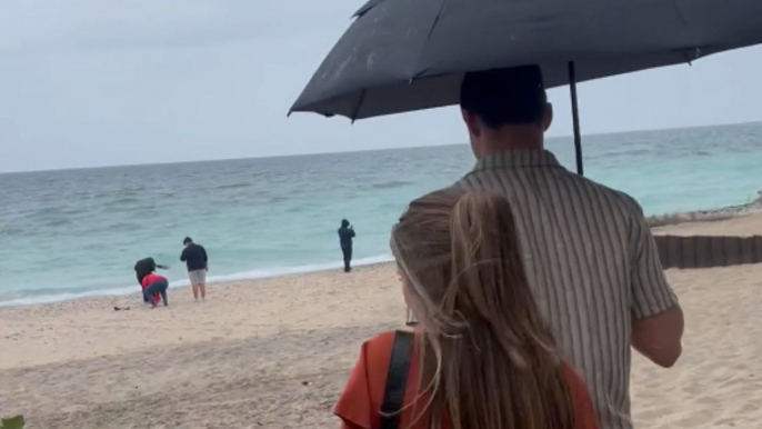
<svg viewBox="0 0 762 429">
<path fill-rule="evenodd" d="M 762 262 L 762 237 L 654 236 L 662 267 L 712 268 Z"/>
</svg>

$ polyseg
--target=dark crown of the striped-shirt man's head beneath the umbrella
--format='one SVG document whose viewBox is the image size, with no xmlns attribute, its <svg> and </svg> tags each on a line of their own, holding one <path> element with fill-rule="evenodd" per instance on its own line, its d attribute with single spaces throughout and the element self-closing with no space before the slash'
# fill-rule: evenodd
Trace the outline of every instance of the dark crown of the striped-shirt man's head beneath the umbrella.
<svg viewBox="0 0 762 429">
<path fill-rule="evenodd" d="M 539 66 L 470 72 L 460 90 L 461 108 L 492 129 L 541 122 L 547 103 Z"/>
</svg>

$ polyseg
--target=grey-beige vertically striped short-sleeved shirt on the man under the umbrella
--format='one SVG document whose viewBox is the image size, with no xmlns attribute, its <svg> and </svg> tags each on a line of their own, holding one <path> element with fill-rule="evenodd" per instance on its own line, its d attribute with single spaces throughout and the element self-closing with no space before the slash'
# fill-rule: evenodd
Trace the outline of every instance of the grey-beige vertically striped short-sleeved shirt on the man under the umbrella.
<svg viewBox="0 0 762 429">
<path fill-rule="evenodd" d="M 488 157 L 457 184 L 513 206 L 527 275 L 602 429 L 629 429 L 631 322 L 678 300 L 640 206 L 565 170 L 548 151 Z"/>
</svg>

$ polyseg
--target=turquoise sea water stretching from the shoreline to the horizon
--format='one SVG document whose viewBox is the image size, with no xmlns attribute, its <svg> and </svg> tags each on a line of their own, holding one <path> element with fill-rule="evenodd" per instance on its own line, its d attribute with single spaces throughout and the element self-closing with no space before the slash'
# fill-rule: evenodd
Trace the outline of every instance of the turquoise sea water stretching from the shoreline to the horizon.
<svg viewBox="0 0 762 429">
<path fill-rule="evenodd" d="M 586 176 L 649 214 L 748 202 L 762 190 L 762 123 L 584 138 Z M 550 150 L 573 169 L 571 139 Z M 405 204 L 473 166 L 467 144 L 0 176 L 0 306 L 137 292 L 132 266 L 171 265 L 191 236 L 212 280 L 338 268 L 342 218 L 357 263 L 389 260 Z"/>
</svg>

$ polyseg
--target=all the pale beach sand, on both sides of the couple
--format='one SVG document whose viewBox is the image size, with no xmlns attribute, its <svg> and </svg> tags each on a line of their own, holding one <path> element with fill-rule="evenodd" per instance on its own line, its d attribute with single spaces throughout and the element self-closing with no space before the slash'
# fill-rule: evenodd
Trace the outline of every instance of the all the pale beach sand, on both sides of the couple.
<svg viewBox="0 0 762 429">
<path fill-rule="evenodd" d="M 762 217 L 661 229 L 762 235 Z M 669 271 L 682 360 L 633 360 L 638 428 L 762 427 L 762 265 Z M 137 287 L 136 287 L 137 289 Z M 30 428 L 330 428 L 361 341 L 404 319 L 393 266 L 0 309 L 0 416 Z M 113 311 L 130 306 L 129 311 Z"/>
</svg>

